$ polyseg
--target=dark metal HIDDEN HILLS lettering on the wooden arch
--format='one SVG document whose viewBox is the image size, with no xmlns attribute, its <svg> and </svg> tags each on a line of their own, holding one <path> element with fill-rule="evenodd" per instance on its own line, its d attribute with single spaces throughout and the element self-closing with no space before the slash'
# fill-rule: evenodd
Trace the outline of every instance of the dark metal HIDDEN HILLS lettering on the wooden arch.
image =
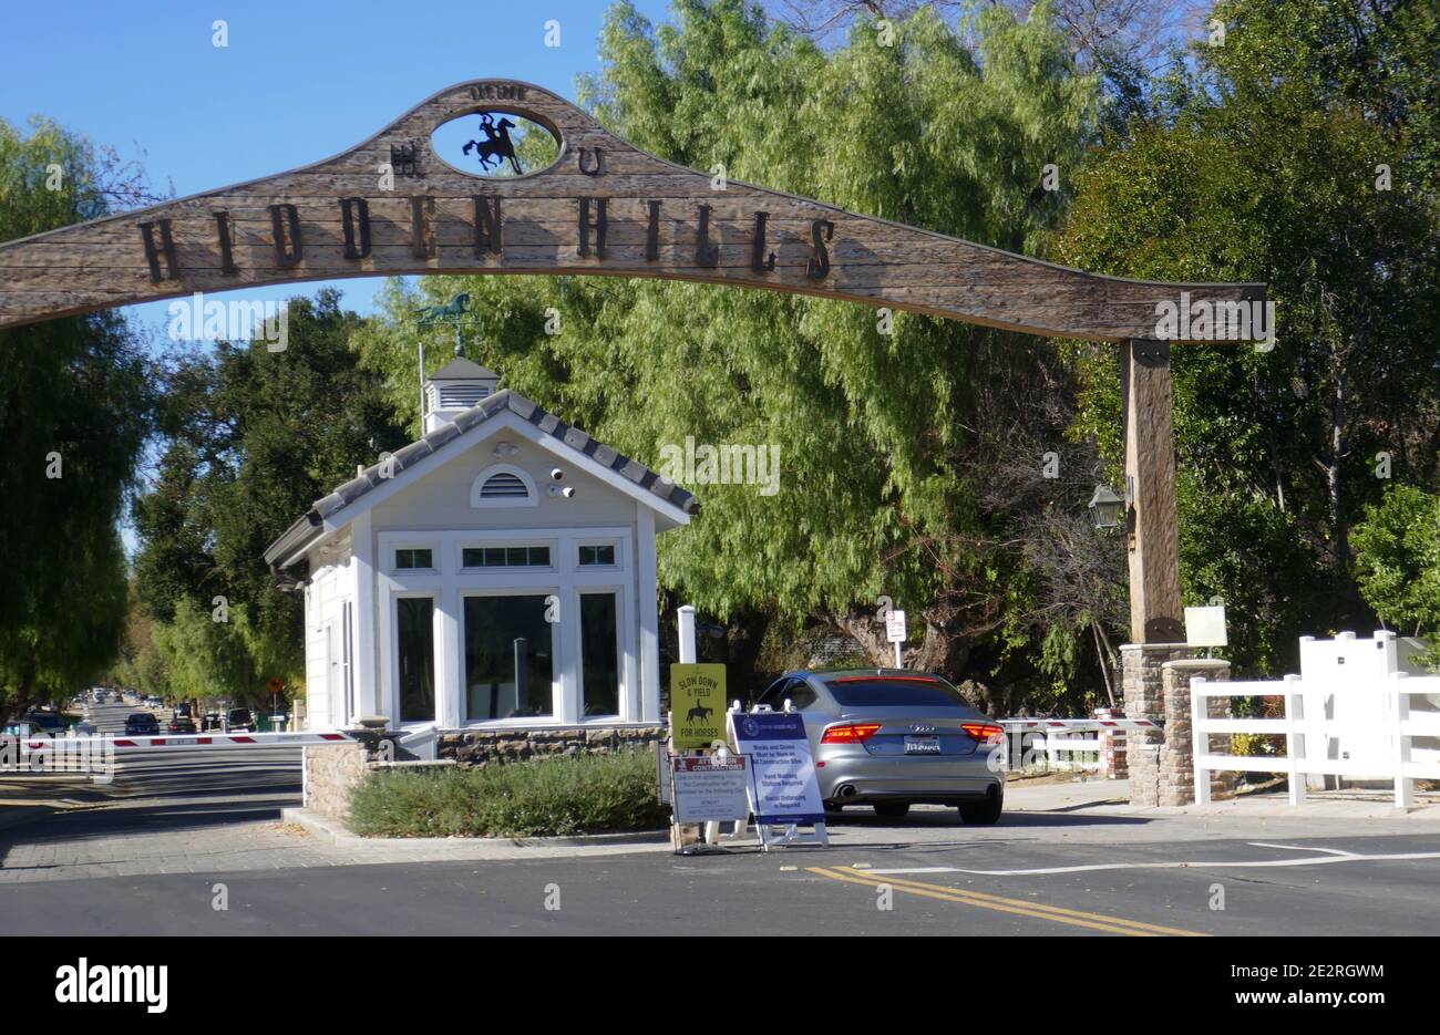
<svg viewBox="0 0 1440 1035">
<path fill-rule="evenodd" d="M 536 219 L 539 204 L 569 202 L 573 206 L 569 239 L 557 238 L 550 222 Z M 318 261 L 320 272 L 344 272 L 346 263 L 367 269 L 364 263 L 380 246 L 380 225 L 386 230 L 386 248 L 408 249 L 409 259 L 436 258 L 441 245 L 468 249 L 477 261 L 498 259 L 504 263 L 517 242 L 511 227 L 523 229 L 518 248 L 526 252 L 517 265 L 540 265 L 537 252 L 549 252 L 546 265 L 553 265 L 553 253 L 573 248 L 583 259 L 603 265 L 616 249 L 616 239 L 631 252 L 629 261 L 644 258 L 647 263 L 661 262 L 664 246 L 674 250 L 665 256 L 672 268 L 717 268 L 721 265 L 720 242 L 714 232 L 714 206 L 688 204 L 677 199 L 616 199 L 580 196 L 573 199 L 507 199 L 500 194 L 469 194 L 436 197 L 432 194 L 403 197 L 338 197 L 333 203 L 307 204 L 302 212 L 294 202 L 265 206 L 259 229 L 248 240 L 249 265 L 256 269 L 295 269 Z M 382 214 L 383 210 L 383 214 Z M 196 272 L 196 256 L 213 253 L 209 263 L 222 275 L 238 276 L 245 265 L 240 256 L 240 235 L 235 213 L 217 209 L 210 213 L 213 223 L 204 239 L 193 240 L 194 225 L 187 238 L 174 219 L 161 217 L 137 223 L 137 246 L 150 269 L 150 281 L 181 279 L 181 274 Z M 688 217 L 687 217 L 688 216 Z M 253 226 L 253 225 L 252 225 Z M 831 242 L 835 223 L 811 219 L 802 232 L 776 230 L 769 212 L 756 210 L 749 216 L 747 239 L 743 242 L 744 265 L 755 274 L 776 272 L 773 248 L 792 246 L 798 265 L 808 279 L 824 281 L 832 272 Z M 668 227 L 668 233 L 665 232 Z M 732 242 L 733 243 L 733 242 Z M 194 246 L 200 246 L 199 249 Z M 213 252 L 210 252 L 213 249 Z M 180 256 L 186 262 L 181 265 Z M 395 256 L 387 255 L 387 261 Z M 340 265 L 336 265 L 336 263 Z M 389 268 L 389 262 L 387 266 Z M 203 269 L 203 266 L 202 266 Z M 369 272 L 369 269 L 367 269 Z"/>
</svg>

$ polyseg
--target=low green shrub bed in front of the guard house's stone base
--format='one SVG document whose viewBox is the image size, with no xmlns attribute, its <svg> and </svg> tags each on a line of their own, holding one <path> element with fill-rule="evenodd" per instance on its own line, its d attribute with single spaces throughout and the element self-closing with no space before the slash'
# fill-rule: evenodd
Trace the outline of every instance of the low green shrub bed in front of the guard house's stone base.
<svg viewBox="0 0 1440 1035">
<path fill-rule="evenodd" d="M 658 831 L 655 760 L 592 754 L 485 769 L 380 770 L 356 787 L 350 828 L 386 838 L 540 838 Z"/>
</svg>

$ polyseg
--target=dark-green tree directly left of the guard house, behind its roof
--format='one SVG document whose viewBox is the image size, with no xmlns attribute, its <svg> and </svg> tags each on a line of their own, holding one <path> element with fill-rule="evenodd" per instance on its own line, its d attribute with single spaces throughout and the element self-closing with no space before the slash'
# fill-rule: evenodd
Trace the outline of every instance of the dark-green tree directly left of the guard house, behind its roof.
<svg viewBox="0 0 1440 1035">
<path fill-rule="evenodd" d="M 170 358 L 157 476 L 135 501 L 140 599 L 176 692 L 258 702 L 304 679 L 297 593 L 264 553 L 360 461 L 408 440 L 347 341 L 334 291 L 288 302 L 288 344 L 217 343 Z"/>
</svg>

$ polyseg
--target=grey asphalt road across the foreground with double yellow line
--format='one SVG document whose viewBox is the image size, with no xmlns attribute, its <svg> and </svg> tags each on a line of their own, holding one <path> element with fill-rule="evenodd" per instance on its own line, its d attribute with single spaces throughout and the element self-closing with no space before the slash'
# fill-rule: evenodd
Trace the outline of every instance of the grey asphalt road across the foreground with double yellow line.
<svg viewBox="0 0 1440 1035">
<path fill-rule="evenodd" d="M 1312 851 L 1302 851 L 1309 848 Z M 1315 849 L 1326 851 L 1315 851 Z M 914 872 L 923 854 L 791 849 L 426 862 L 0 887 L 9 934 L 1431 934 L 1436 859 L 1274 862 L 1333 851 L 1437 854 L 1436 838 L 1064 854 L 992 842 L 976 864 L 1122 865 L 1031 875 Z M 1123 858 L 1116 858 L 1122 857 Z M 1338 858 L 1338 857 L 1331 857 Z M 907 874 L 881 872 L 909 869 Z M 1224 895 L 1224 908 L 1218 895 Z M 225 908 L 217 908 L 217 904 Z"/>
</svg>

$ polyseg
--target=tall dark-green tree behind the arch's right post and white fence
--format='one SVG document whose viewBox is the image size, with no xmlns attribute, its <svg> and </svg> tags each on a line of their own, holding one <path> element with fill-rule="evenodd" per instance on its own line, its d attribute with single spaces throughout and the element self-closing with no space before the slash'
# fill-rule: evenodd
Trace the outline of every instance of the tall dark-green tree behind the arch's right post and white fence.
<svg viewBox="0 0 1440 1035">
<path fill-rule="evenodd" d="M 1437 476 L 1434 88 L 1417 62 L 1440 36 L 1417 7 L 1220 4 L 1224 45 L 1197 48 L 1178 107 L 1092 155 L 1057 249 L 1100 272 L 1270 285 L 1273 351 L 1172 357 L 1187 596 L 1225 600 L 1244 669 L 1293 665 L 1300 633 L 1368 628 L 1351 528 L 1387 475 Z M 1113 357 L 1076 354 L 1074 430 L 1117 468 Z"/>
</svg>

